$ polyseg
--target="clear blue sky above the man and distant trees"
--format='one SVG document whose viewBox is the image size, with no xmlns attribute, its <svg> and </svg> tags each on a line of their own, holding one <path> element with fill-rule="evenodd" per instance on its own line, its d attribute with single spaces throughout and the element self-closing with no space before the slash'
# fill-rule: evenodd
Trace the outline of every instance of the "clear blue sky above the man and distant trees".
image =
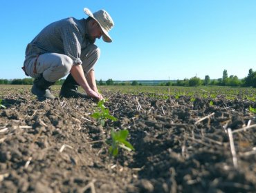
<svg viewBox="0 0 256 193">
<path fill-rule="evenodd" d="M 26 45 L 49 23 L 104 9 L 115 26 L 101 50 L 97 80 L 176 80 L 256 70 L 255 0 L 2 0 L 0 79 L 26 78 Z"/>
</svg>

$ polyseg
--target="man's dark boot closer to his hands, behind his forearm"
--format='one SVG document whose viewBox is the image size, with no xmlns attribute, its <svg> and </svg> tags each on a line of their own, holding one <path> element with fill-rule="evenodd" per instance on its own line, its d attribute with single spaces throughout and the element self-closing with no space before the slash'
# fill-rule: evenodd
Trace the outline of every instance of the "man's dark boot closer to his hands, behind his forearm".
<svg viewBox="0 0 256 193">
<path fill-rule="evenodd" d="M 66 80 L 62 84 L 62 88 L 60 89 L 60 97 L 64 98 L 89 98 L 85 93 L 78 92 L 78 83 L 72 77 L 71 74 L 68 74 Z"/>
</svg>

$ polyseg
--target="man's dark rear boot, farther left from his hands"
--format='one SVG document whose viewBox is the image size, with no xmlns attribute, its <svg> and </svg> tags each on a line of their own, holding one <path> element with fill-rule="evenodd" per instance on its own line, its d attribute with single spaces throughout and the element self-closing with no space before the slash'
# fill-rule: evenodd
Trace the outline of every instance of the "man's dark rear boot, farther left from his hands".
<svg viewBox="0 0 256 193">
<path fill-rule="evenodd" d="M 50 86 L 54 85 L 55 82 L 49 82 L 44 79 L 43 74 L 40 74 L 33 83 L 31 92 L 37 95 L 38 101 L 45 101 L 46 99 L 54 100 L 55 96 L 51 94 Z"/>
</svg>

